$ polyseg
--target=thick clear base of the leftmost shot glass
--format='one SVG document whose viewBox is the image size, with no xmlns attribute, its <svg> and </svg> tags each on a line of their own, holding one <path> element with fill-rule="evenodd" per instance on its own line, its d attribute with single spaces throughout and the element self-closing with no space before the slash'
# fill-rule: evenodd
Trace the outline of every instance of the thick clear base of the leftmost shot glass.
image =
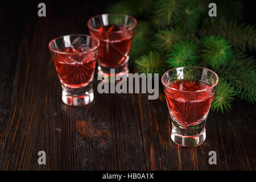
<svg viewBox="0 0 256 182">
<path fill-rule="evenodd" d="M 64 84 L 62 86 L 62 101 L 69 106 L 84 106 L 93 101 L 94 94 L 92 82 L 82 88 L 69 88 Z"/>
</svg>

